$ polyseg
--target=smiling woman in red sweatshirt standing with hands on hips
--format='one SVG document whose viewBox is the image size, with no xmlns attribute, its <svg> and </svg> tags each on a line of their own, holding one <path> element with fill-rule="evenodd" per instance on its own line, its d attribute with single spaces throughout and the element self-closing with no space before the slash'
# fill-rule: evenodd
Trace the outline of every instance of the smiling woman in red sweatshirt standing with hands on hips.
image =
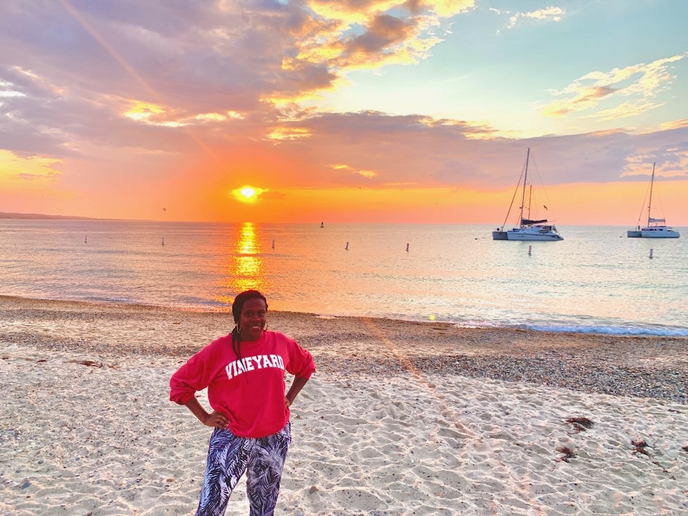
<svg viewBox="0 0 688 516">
<path fill-rule="evenodd" d="M 215 430 L 196 516 L 222 516 L 246 473 L 250 516 L 272 516 L 291 437 L 289 407 L 314 373 L 311 354 L 266 328 L 268 302 L 257 290 L 232 304 L 236 326 L 189 358 L 170 380 L 170 399 Z M 285 395 L 284 372 L 295 376 Z M 208 387 L 208 413 L 196 391 Z"/>
</svg>

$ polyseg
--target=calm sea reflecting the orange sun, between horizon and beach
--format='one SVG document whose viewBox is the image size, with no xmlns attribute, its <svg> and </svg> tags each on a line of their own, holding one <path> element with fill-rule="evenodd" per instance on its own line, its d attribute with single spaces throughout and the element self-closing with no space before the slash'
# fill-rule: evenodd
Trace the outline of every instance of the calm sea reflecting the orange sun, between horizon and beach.
<svg viewBox="0 0 688 516">
<path fill-rule="evenodd" d="M 562 226 L 559 242 L 492 229 L 6 219 L 0 294 L 227 310 L 257 288 L 275 310 L 688 336 L 685 228 Z"/>
</svg>

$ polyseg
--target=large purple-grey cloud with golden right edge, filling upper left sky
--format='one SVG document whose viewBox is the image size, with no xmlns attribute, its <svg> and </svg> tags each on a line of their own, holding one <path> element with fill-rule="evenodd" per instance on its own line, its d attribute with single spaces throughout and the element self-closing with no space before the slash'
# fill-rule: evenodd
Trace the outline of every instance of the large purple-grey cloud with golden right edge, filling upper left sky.
<svg viewBox="0 0 688 516">
<path fill-rule="evenodd" d="M 413 14 L 402 2 L 10 4 L 0 79 L 26 102 L 5 109 L 45 107 L 38 90 L 52 89 L 67 104 L 167 127 L 279 116 L 273 103 L 332 89 L 348 69 L 417 61 L 439 41 L 422 35 L 438 17 L 426 3 L 413 4 Z M 471 4 L 437 9 L 449 16 Z M 20 70 L 32 80 L 17 80 Z"/>
</svg>

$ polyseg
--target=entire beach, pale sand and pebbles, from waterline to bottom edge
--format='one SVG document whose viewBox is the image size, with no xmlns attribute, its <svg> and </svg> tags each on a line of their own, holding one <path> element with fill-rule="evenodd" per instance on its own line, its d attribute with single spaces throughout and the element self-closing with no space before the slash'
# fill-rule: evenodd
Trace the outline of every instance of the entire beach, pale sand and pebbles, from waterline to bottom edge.
<svg viewBox="0 0 688 516">
<path fill-rule="evenodd" d="M 688 338 L 268 324 L 318 367 L 276 515 L 688 514 Z M 231 326 L 0 297 L 0 515 L 193 515 L 211 429 L 169 377 Z M 245 493 L 227 515 L 248 515 Z"/>
</svg>

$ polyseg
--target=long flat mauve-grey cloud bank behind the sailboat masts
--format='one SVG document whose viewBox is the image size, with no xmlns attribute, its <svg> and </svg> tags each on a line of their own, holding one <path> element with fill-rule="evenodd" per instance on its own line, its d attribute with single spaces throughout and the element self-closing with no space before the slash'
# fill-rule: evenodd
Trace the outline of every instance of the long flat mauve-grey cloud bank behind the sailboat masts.
<svg viewBox="0 0 688 516">
<path fill-rule="evenodd" d="M 632 180 L 625 176 L 627 171 L 641 170 L 643 163 L 653 160 L 663 168 L 669 155 L 688 164 L 687 127 L 513 140 L 475 139 L 474 132 L 484 127 L 467 122 L 377 112 L 322 114 L 298 123 L 310 136 L 282 150 L 309 164 L 290 171 L 292 184 L 299 187 L 502 189 L 513 182 L 527 147 L 533 149 L 549 184 Z M 667 148 L 673 150 L 667 153 Z"/>
</svg>

